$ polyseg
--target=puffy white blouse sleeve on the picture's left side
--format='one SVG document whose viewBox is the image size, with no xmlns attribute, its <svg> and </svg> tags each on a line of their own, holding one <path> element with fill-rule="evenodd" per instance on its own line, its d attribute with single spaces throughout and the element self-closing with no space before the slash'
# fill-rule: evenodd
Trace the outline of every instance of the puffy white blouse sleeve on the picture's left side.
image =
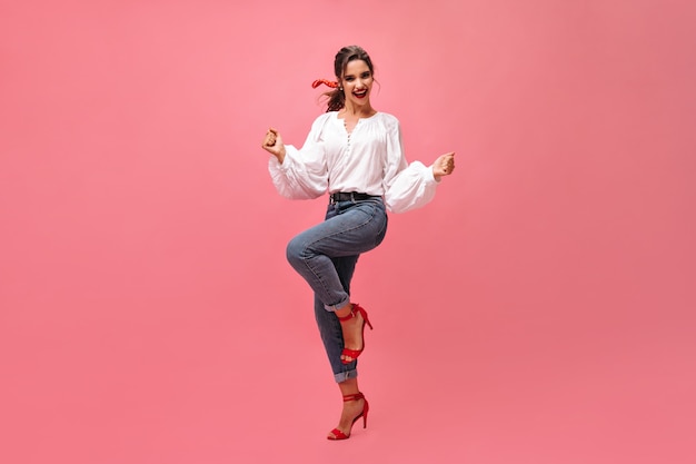
<svg viewBox="0 0 696 464">
<path fill-rule="evenodd" d="M 290 199 L 311 199 L 328 188 L 328 170 L 321 128 L 326 117 L 317 118 L 301 149 L 286 145 L 282 164 L 275 156 L 268 160 L 268 170 L 278 192 Z"/>
</svg>

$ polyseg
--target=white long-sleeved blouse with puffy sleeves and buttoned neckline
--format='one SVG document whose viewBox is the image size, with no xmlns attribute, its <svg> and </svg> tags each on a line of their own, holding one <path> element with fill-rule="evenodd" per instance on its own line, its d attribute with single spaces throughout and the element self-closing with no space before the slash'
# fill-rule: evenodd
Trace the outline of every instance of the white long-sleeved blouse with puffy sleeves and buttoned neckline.
<svg viewBox="0 0 696 464">
<path fill-rule="evenodd" d="M 350 134 L 337 111 L 326 112 L 315 120 L 301 149 L 286 145 L 282 164 L 271 156 L 268 168 L 286 198 L 356 191 L 384 197 L 394 213 L 426 205 L 438 184 L 431 167 L 406 161 L 399 120 L 386 112 L 359 119 Z"/>
</svg>

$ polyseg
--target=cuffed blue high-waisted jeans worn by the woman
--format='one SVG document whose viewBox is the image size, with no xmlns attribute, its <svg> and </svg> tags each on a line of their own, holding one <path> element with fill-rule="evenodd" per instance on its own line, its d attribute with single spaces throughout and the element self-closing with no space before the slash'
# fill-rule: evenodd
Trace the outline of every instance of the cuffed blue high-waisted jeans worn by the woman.
<svg viewBox="0 0 696 464">
<path fill-rule="evenodd" d="M 336 382 L 357 377 L 357 359 L 342 364 L 344 335 L 334 312 L 350 303 L 350 280 L 361 253 L 387 233 L 380 197 L 329 204 L 326 220 L 299 234 L 287 248 L 288 261 L 315 292 L 315 317 Z"/>
</svg>

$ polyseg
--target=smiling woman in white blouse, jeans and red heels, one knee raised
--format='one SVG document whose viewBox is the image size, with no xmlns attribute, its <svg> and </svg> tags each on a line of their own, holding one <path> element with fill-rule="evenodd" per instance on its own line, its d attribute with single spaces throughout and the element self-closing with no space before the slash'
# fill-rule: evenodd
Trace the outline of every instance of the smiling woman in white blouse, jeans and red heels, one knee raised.
<svg viewBox="0 0 696 464">
<path fill-rule="evenodd" d="M 365 347 L 367 312 L 350 303 L 350 280 L 361 253 L 377 247 L 387 230 L 387 209 L 404 213 L 427 204 L 441 177 L 455 168 L 454 152 L 430 167 L 406 161 L 399 121 L 370 105 L 374 68 L 360 47 L 345 47 L 334 62 L 336 82 L 327 112 L 319 116 L 305 145 L 284 145 L 269 129 L 262 147 L 272 157 L 269 170 L 284 197 L 329 194 L 326 220 L 295 237 L 287 248 L 292 267 L 315 292 L 315 315 L 334 377 L 344 396 L 338 426 L 329 440 L 346 440 L 369 405 L 358 388 L 357 358 Z"/>
</svg>

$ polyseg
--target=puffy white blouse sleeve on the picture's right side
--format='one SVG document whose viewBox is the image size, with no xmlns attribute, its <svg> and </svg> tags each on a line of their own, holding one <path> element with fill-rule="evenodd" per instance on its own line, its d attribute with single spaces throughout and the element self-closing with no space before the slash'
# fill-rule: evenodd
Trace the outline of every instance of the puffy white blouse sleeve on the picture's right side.
<svg viewBox="0 0 696 464">
<path fill-rule="evenodd" d="M 435 197 L 438 181 L 432 168 L 420 161 L 410 165 L 404 156 L 398 120 L 387 129 L 387 165 L 384 177 L 385 203 L 392 213 L 420 208 Z"/>
</svg>

